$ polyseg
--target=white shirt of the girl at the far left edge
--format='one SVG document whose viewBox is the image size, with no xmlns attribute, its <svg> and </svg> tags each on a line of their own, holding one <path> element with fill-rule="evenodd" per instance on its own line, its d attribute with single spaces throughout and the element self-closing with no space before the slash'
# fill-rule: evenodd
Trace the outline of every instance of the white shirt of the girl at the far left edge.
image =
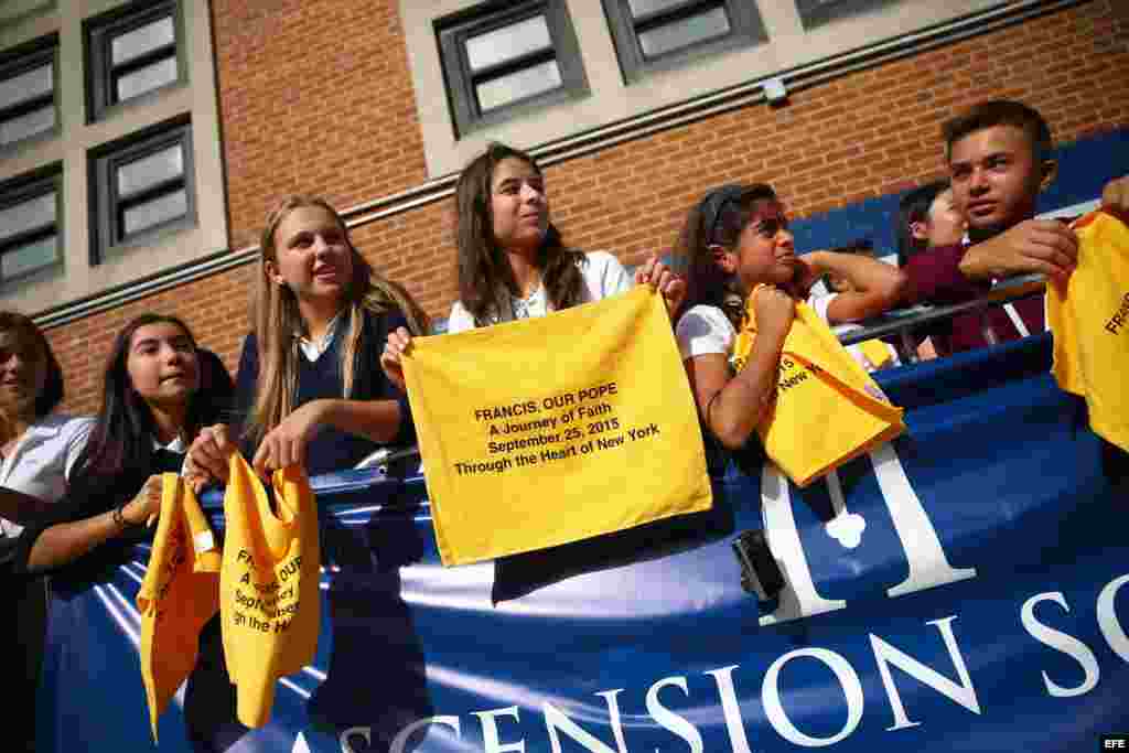
<svg viewBox="0 0 1129 753">
<path fill-rule="evenodd" d="M 0 464 L 0 487 L 15 489 L 44 502 L 56 502 L 67 492 L 67 475 L 94 428 L 93 418 L 45 415 L 27 428 L 11 454 Z M 0 533 L 18 536 L 24 526 L 0 518 Z"/>
</svg>

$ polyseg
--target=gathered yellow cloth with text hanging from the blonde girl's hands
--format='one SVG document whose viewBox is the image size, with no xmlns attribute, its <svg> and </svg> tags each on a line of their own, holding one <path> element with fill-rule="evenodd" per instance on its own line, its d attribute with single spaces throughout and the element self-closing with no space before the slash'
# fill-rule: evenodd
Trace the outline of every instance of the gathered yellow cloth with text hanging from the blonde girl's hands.
<svg viewBox="0 0 1129 753">
<path fill-rule="evenodd" d="M 275 471 L 272 485 L 277 514 L 247 462 L 233 453 L 220 619 L 237 716 L 248 727 L 270 719 L 275 681 L 314 660 L 321 620 L 314 492 L 298 466 Z"/>
</svg>

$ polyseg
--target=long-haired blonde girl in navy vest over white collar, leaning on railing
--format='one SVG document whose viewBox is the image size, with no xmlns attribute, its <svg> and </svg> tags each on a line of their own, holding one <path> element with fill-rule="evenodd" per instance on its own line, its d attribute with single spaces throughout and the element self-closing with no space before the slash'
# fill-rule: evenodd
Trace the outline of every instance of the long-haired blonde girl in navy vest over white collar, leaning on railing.
<svg viewBox="0 0 1129 753">
<path fill-rule="evenodd" d="M 239 439 L 255 470 L 301 465 L 316 475 L 380 445 L 411 444 L 408 399 L 376 362 L 390 331 L 422 334 L 427 315 L 360 255 L 333 207 L 282 199 L 266 218 L 256 280 L 236 377 Z M 196 491 L 227 481 L 236 440 L 226 424 L 201 431 L 186 467 Z"/>
</svg>

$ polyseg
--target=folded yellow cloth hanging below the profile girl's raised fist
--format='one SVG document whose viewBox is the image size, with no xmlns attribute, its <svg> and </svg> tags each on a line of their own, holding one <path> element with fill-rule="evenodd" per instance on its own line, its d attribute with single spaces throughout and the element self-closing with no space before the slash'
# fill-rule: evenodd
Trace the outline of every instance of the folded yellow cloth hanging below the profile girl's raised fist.
<svg viewBox="0 0 1129 753">
<path fill-rule="evenodd" d="M 744 368 L 756 338 L 755 296 L 754 290 L 734 342 L 737 370 Z M 904 430 L 902 409 L 890 404 L 826 323 L 797 301 L 780 356 L 777 394 L 756 427 L 769 458 L 796 485 L 806 487 Z"/>
</svg>

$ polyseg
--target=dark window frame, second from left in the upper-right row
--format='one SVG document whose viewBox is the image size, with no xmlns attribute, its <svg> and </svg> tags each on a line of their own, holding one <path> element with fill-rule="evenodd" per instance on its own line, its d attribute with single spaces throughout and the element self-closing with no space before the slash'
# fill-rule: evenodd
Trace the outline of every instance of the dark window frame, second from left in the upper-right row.
<svg viewBox="0 0 1129 753">
<path fill-rule="evenodd" d="M 625 84 L 636 84 L 650 73 L 681 68 L 704 56 L 737 47 L 751 47 L 768 41 L 768 30 L 755 3 L 750 0 L 684 0 L 664 10 L 651 11 L 641 18 L 631 15 L 628 0 L 603 0 L 604 15 L 612 32 L 615 54 Z M 725 8 L 729 33 L 701 40 L 655 58 L 646 58 L 639 44 L 639 34 L 698 14 Z"/>
</svg>

